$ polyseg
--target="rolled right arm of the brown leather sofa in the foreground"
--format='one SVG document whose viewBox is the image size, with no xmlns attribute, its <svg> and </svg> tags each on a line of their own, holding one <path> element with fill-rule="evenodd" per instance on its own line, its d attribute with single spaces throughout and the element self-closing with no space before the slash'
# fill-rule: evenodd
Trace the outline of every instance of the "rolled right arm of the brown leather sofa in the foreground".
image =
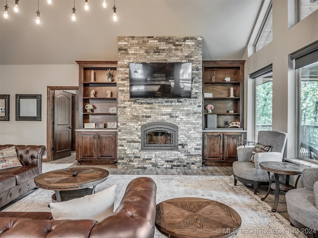
<svg viewBox="0 0 318 238">
<path fill-rule="evenodd" d="M 90 238 L 153 238 L 155 233 L 157 185 L 148 177 L 133 179 L 114 212 L 98 222 Z"/>
</svg>

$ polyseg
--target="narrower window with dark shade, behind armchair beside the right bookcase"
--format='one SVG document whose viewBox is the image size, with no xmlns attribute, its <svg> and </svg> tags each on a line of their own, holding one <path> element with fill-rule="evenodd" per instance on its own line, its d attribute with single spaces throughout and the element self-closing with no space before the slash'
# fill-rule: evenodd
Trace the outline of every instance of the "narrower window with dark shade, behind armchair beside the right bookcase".
<svg viewBox="0 0 318 238">
<path fill-rule="evenodd" d="M 258 131 L 272 130 L 273 71 L 268 65 L 250 75 L 254 79 L 254 141 Z"/>
</svg>

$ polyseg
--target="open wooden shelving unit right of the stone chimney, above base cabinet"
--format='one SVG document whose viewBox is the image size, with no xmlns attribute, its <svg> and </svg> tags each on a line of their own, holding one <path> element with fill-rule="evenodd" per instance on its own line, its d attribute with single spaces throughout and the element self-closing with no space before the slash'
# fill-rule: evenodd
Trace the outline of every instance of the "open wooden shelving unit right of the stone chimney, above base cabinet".
<svg viewBox="0 0 318 238">
<path fill-rule="evenodd" d="M 202 70 L 203 129 L 208 127 L 209 104 L 214 106 L 217 128 L 227 128 L 231 122 L 243 128 L 244 60 L 203 61 Z"/>
</svg>

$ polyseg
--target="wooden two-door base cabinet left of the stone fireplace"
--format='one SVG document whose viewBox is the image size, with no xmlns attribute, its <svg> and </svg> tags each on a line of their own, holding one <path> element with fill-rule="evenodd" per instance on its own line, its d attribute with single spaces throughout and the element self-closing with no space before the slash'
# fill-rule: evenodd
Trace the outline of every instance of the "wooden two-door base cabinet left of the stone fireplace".
<svg viewBox="0 0 318 238">
<path fill-rule="evenodd" d="M 77 130 L 76 157 L 79 163 L 115 164 L 117 132 Z"/>
</svg>

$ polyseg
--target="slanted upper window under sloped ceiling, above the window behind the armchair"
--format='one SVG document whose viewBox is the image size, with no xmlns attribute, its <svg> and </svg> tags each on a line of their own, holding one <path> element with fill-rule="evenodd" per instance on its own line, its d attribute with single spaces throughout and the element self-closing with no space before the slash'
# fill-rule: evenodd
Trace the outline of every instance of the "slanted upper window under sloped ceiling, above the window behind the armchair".
<svg viewBox="0 0 318 238">
<path fill-rule="evenodd" d="M 272 4 L 269 5 L 269 8 L 266 12 L 264 21 L 258 35 L 256 37 L 256 41 L 254 43 L 254 52 L 259 51 L 268 43 L 273 40 L 273 11 L 272 11 Z"/>
</svg>

